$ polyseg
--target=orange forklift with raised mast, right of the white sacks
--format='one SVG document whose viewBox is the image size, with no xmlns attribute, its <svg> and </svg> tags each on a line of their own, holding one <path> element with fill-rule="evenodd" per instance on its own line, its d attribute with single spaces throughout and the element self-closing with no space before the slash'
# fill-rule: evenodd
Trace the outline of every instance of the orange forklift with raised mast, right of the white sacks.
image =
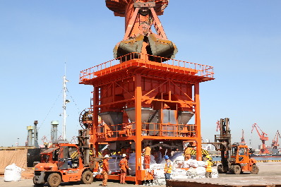
<svg viewBox="0 0 281 187">
<path fill-rule="evenodd" d="M 229 119 L 220 119 L 220 135 L 215 135 L 216 150 L 221 153 L 222 164 L 217 166 L 219 174 L 229 172 L 230 174 L 241 174 L 250 171 L 258 174 L 256 159 L 250 157 L 251 151 L 247 145 L 239 143 L 231 144 L 231 133 L 229 129 Z"/>
</svg>

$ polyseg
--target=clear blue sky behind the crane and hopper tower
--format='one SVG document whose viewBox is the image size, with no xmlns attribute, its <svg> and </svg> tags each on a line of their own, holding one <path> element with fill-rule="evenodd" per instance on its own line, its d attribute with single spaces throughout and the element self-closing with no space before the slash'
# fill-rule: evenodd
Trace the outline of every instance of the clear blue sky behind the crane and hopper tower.
<svg viewBox="0 0 281 187">
<path fill-rule="evenodd" d="M 216 121 L 229 117 L 232 142 L 246 143 L 258 123 L 270 145 L 281 131 L 281 1 L 171 0 L 160 16 L 175 59 L 214 66 L 215 80 L 201 84 L 202 136 L 213 141 Z M 0 146 L 24 145 L 33 121 L 39 143 L 62 118 L 62 77 L 69 83 L 68 140 L 78 135 L 80 111 L 90 106 L 90 85 L 80 71 L 113 59 L 124 37 L 124 18 L 104 0 L 0 0 Z"/>
</svg>

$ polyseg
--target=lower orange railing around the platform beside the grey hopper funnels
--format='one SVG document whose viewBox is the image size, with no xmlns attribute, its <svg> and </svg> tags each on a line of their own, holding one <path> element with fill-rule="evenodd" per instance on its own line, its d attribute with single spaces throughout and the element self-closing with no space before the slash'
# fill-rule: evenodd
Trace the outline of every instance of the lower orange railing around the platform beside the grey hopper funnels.
<svg viewBox="0 0 281 187">
<path fill-rule="evenodd" d="M 97 126 L 97 138 L 117 138 L 136 135 L 136 123 L 123 123 L 112 126 Z M 170 123 L 141 123 L 141 135 L 162 137 L 196 137 L 196 125 Z"/>
</svg>

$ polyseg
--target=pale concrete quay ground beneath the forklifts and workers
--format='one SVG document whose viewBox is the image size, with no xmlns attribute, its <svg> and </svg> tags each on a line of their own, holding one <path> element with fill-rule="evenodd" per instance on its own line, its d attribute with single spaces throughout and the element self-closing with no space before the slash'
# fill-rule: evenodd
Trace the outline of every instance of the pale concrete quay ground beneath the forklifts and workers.
<svg viewBox="0 0 281 187">
<path fill-rule="evenodd" d="M 239 175 L 234 175 L 234 174 L 220 174 L 219 179 L 215 180 L 220 180 L 224 181 L 225 178 L 232 178 L 235 180 L 237 178 L 238 180 L 241 180 L 241 177 L 247 177 L 247 181 L 251 181 L 251 179 L 256 180 L 258 177 L 263 180 L 263 177 L 270 178 L 270 177 L 276 177 L 276 176 L 281 176 L 281 162 L 258 162 L 258 167 L 260 169 L 258 174 L 239 174 Z M 22 179 L 21 181 L 15 181 L 15 182 L 4 182 L 4 177 L 0 177 L 0 186 L 5 186 L 5 187 L 30 187 L 33 186 L 32 179 L 30 178 L 31 176 L 26 175 L 24 177 L 25 179 Z M 212 179 L 209 179 L 212 180 Z M 102 184 L 102 181 L 95 181 L 92 184 L 80 184 L 80 183 L 61 183 L 61 186 L 79 186 L 79 187 L 94 187 L 94 186 L 100 186 Z M 124 185 L 124 184 L 119 184 L 118 181 L 109 181 L 108 186 L 116 186 L 116 187 L 124 187 L 124 186 L 132 186 L 133 183 L 129 183 Z M 47 186 L 45 184 L 44 186 Z M 157 186 L 155 186 L 157 187 Z M 162 186 L 163 187 L 163 186 Z"/>
</svg>

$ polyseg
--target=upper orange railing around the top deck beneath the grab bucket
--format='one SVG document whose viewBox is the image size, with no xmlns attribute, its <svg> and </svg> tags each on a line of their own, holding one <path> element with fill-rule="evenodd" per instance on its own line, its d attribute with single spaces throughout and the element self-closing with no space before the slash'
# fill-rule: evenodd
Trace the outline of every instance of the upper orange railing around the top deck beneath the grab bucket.
<svg viewBox="0 0 281 187">
<path fill-rule="evenodd" d="M 179 61 L 176 59 L 167 59 L 160 56 L 153 56 L 150 54 L 140 54 L 140 53 L 131 53 L 126 54 L 124 56 L 120 56 L 117 59 L 113 59 L 111 61 L 104 62 L 102 64 L 99 64 L 97 66 L 93 66 L 92 68 L 85 69 L 83 71 L 80 71 L 80 83 L 84 80 L 90 80 L 92 78 L 97 77 L 97 72 L 101 71 L 99 73 L 100 76 L 102 76 L 102 73 L 112 73 L 113 71 L 116 71 L 116 67 L 113 68 L 113 66 L 118 65 L 118 69 L 122 68 L 128 68 L 133 65 L 136 65 L 136 61 L 130 61 L 132 59 L 142 59 L 143 61 L 138 61 L 141 66 L 143 64 L 149 66 L 150 68 L 156 68 L 156 66 L 152 66 L 151 61 L 157 63 L 157 68 L 167 68 L 169 71 L 184 71 L 186 73 L 186 69 L 195 70 L 193 71 L 193 74 L 195 76 L 202 76 L 207 78 L 213 78 L 213 66 L 206 66 L 202 64 L 195 64 L 187 61 Z M 125 63 L 126 62 L 126 63 Z M 138 64 L 137 64 L 138 65 Z M 155 65 L 155 64 L 154 64 Z M 170 66 L 167 66 L 170 65 Z M 107 69 L 109 68 L 109 69 Z M 184 69 L 186 68 L 186 69 Z M 102 72 L 102 70 L 107 69 L 107 71 Z M 188 73 L 189 71 L 187 71 Z"/>
</svg>

